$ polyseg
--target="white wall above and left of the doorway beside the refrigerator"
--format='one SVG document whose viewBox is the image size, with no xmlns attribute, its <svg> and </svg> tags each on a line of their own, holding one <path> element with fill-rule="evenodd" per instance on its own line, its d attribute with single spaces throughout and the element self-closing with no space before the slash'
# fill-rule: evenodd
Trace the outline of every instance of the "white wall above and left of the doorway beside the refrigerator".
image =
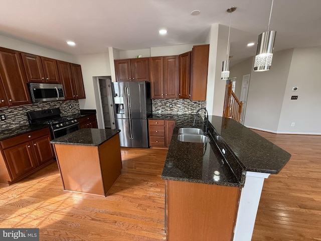
<svg viewBox="0 0 321 241">
<path fill-rule="evenodd" d="M 82 75 L 84 79 L 86 99 L 80 99 L 79 105 L 81 109 L 97 109 L 94 84 L 94 76 L 110 76 L 109 53 L 100 54 L 83 54 L 76 56 L 77 61 L 81 65 Z"/>
</svg>

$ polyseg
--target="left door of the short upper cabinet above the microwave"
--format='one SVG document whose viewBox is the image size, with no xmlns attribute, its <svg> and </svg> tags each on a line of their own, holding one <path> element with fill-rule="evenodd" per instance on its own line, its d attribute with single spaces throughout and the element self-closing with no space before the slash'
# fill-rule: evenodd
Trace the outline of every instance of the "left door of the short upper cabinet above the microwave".
<svg viewBox="0 0 321 241">
<path fill-rule="evenodd" d="M 21 54 L 28 82 L 46 83 L 41 57 L 34 54 Z"/>
</svg>

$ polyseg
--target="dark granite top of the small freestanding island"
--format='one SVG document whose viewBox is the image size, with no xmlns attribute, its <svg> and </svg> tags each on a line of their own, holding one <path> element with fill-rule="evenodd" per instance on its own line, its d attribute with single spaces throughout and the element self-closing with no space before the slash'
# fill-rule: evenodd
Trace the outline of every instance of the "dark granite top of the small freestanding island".
<svg viewBox="0 0 321 241">
<path fill-rule="evenodd" d="M 119 130 L 110 129 L 80 129 L 63 137 L 52 140 L 52 144 L 99 146 L 117 135 Z"/>
</svg>

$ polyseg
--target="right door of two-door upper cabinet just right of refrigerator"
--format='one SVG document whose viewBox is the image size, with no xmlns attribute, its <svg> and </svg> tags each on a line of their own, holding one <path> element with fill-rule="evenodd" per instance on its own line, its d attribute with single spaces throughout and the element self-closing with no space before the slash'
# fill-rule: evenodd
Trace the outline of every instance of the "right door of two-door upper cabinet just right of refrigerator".
<svg viewBox="0 0 321 241">
<path fill-rule="evenodd" d="M 164 57 L 164 98 L 178 98 L 179 56 Z"/>
</svg>

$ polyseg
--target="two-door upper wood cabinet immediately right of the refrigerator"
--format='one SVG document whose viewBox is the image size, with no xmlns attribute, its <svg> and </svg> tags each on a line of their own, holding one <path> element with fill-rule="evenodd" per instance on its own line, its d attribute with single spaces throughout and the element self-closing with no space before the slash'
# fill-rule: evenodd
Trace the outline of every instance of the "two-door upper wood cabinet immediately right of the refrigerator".
<svg viewBox="0 0 321 241">
<path fill-rule="evenodd" d="M 149 58 L 151 98 L 178 98 L 179 56 Z"/>
</svg>

